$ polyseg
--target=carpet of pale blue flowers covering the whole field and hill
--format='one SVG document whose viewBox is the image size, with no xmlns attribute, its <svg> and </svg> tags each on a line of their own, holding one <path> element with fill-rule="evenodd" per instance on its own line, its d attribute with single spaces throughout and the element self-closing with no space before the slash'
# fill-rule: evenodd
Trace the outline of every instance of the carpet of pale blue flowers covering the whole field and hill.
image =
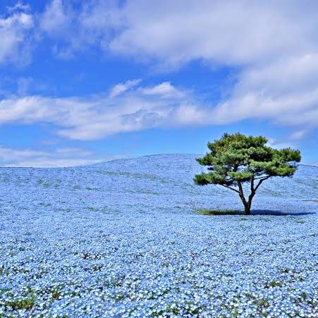
<svg viewBox="0 0 318 318">
<path fill-rule="evenodd" d="M 194 158 L 0 169 L 0 317 L 317 317 L 318 168 L 204 216 Z"/>
</svg>

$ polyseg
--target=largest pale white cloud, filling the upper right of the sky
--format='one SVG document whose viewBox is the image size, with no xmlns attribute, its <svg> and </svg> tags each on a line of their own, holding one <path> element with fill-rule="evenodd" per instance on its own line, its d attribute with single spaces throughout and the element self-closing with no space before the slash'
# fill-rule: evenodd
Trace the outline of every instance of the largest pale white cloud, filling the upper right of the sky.
<svg viewBox="0 0 318 318">
<path fill-rule="evenodd" d="M 161 1 L 154 11 L 149 1 L 137 3 L 122 9 L 126 27 L 109 43 L 111 50 L 167 66 L 195 59 L 240 66 L 233 92 L 202 123 L 268 118 L 317 127 L 317 4 Z"/>
</svg>

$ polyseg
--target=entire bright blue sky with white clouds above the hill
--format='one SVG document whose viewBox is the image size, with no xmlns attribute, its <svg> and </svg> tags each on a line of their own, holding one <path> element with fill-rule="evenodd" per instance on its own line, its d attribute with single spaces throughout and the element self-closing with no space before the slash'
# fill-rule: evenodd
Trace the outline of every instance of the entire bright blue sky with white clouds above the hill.
<svg viewBox="0 0 318 318">
<path fill-rule="evenodd" d="M 318 164 L 318 2 L 0 1 L 0 166 L 204 154 L 264 135 Z"/>
</svg>

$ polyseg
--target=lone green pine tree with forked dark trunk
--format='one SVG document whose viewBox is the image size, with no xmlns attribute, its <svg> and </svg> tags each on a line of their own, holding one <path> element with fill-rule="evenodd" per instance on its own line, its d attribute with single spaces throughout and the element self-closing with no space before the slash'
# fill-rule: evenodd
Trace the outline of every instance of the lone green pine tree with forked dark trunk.
<svg viewBox="0 0 318 318">
<path fill-rule="evenodd" d="M 208 142 L 210 152 L 197 158 L 197 162 L 207 166 L 208 171 L 197 174 L 195 183 L 221 185 L 238 192 L 245 214 L 250 214 L 252 199 L 262 182 L 274 176 L 293 176 L 301 159 L 299 150 L 274 149 L 267 142 L 266 137 L 240 133 L 224 133 L 219 140 Z M 250 195 L 247 198 L 243 183 L 250 183 Z"/>
</svg>

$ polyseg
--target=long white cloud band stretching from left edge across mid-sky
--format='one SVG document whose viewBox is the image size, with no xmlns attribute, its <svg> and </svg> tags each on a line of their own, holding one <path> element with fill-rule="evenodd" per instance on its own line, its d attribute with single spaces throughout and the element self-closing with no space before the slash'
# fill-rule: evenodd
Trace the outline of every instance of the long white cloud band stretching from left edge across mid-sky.
<svg viewBox="0 0 318 318">
<path fill-rule="evenodd" d="M 106 96 L 3 99 L 0 101 L 0 124 L 48 122 L 56 126 L 58 135 L 75 140 L 95 140 L 116 133 L 187 122 L 182 109 L 194 107 L 188 92 L 169 84 L 170 90 L 159 90 L 157 96 L 149 92 L 156 92 L 160 85 L 140 87 L 137 82 L 139 80 L 121 84 L 121 90 L 116 85 Z M 184 113 L 183 116 L 180 113 Z"/>
</svg>

